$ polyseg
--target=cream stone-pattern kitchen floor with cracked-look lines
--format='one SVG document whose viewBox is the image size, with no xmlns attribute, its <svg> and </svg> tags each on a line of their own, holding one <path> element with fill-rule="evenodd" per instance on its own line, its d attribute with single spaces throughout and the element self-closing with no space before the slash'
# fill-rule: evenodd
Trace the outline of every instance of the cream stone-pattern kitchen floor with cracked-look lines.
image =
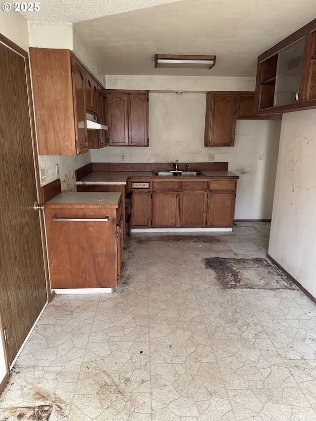
<svg viewBox="0 0 316 421">
<path fill-rule="evenodd" d="M 316 305 L 295 285 L 224 289 L 205 267 L 266 258 L 269 234 L 133 234 L 113 293 L 46 307 L 0 420 L 316 421 Z"/>
</svg>

